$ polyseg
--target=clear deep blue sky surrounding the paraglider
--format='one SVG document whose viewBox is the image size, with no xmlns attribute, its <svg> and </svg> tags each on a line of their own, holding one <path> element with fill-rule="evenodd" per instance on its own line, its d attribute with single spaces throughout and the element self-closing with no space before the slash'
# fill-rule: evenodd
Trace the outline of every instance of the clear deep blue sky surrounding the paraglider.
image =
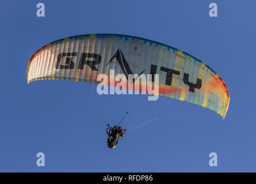
<svg viewBox="0 0 256 184">
<path fill-rule="evenodd" d="M 36 5 L 45 4 L 45 17 Z M 209 3 L 218 17 L 209 17 Z M 255 1 L 2 1 L 0 171 L 251 172 L 255 146 Z M 188 52 L 230 91 L 226 118 L 200 106 L 147 95 L 98 95 L 97 85 L 26 83 L 30 57 L 77 34 L 117 33 Z M 114 150 L 106 125 L 134 128 Z M 172 113 L 172 114 L 171 114 Z M 171 115 L 170 115 L 171 114 Z M 45 167 L 36 154 L 44 152 Z M 209 166 L 216 152 L 218 166 Z"/>
</svg>

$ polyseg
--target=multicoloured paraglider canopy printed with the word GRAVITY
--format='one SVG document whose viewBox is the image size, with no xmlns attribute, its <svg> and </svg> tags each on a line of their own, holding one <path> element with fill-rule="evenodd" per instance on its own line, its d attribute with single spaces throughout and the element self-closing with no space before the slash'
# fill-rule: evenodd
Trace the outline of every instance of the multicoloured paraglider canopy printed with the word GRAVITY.
<svg viewBox="0 0 256 184">
<path fill-rule="evenodd" d="M 27 80 L 100 83 L 97 75 L 109 75 L 110 69 L 115 75 L 159 74 L 159 95 L 226 115 L 228 89 L 212 68 L 186 52 L 135 36 L 85 34 L 49 43 L 29 60 Z"/>
</svg>

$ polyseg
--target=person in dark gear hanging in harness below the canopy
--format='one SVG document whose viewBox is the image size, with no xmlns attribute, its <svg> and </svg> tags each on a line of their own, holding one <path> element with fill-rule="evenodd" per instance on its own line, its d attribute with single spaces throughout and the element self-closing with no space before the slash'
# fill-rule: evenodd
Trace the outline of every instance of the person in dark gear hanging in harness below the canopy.
<svg viewBox="0 0 256 184">
<path fill-rule="evenodd" d="M 124 117 L 128 114 L 128 112 L 124 115 Z M 125 134 L 125 131 L 127 131 L 127 129 L 122 129 L 121 127 L 119 127 L 120 123 L 124 120 L 124 117 L 120 120 L 118 125 L 115 125 L 113 128 L 110 128 L 109 124 L 108 124 L 108 128 L 106 128 L 106 133 L 109 136 L 108 137 L 108 147 L 109 148 L 114 148 L 116 147 L 117 143 L 118 143 L 118 139 L 120 137 L 123 137 Z"/>
</svg>

